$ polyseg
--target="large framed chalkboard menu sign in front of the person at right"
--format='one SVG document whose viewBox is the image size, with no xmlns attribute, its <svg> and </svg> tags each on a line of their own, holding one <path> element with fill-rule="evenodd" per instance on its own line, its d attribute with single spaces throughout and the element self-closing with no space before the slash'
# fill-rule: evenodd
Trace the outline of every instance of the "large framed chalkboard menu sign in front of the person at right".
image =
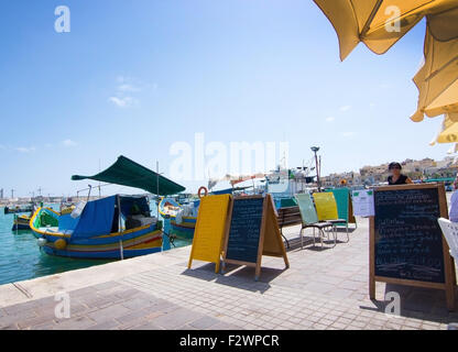
<svg viewBox="0 0 458 352">
<path fill-rule="evenodd" d="M 448 218 L 444 184 L 374 188 L 370 217 L 369 297 L 375 282 L 444 289 L 455 309 L 455 263 L 439 218 Z"/>
</svg>

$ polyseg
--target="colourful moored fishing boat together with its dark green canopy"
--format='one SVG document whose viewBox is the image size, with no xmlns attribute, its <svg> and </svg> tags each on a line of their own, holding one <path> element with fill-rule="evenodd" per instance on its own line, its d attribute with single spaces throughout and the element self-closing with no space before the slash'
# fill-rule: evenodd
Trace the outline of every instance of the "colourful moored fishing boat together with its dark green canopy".
<svg viewBox="0 0 458 352">
<path fill-rule="evenodd" d="M 124 156 L 100 174 L 72 179 L 109 182 L 160 195 L 185 189 Z M 44 224 L 43 218 L 47 219 Z M 110 196 L 78 204 L 74 211 L 64 213 L 39 208 L 30 227 L 39 238 L 39 245 L 51 255 L 127 258 L 170 249 L 162 221 L 151 216 L 148 196 Z"/>
</svg>

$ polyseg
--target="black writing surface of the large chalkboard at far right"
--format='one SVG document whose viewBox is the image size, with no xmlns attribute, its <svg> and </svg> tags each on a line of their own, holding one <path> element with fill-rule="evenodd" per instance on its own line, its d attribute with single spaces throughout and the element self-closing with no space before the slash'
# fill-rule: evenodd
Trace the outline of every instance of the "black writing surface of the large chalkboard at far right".
<svg viewBox="0 0 458 352">
<path fill-rule="evenodd" d="M 374 191 L 375 276 L 445 283 L 437 188 Z"/>
</svg>

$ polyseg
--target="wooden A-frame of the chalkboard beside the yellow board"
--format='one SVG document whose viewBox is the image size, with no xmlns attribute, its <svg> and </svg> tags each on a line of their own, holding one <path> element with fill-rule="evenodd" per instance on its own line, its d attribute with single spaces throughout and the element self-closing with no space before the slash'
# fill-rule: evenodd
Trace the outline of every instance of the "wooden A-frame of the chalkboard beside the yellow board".
<svg viewBox="0 0 458 352">
<path fill-rule="evenodd" d="M 237 201 L 238 199 L 263 199 L 263 205 L 262 205 L 262 220 L 261 220 L 261 230 L 260 230 L 260 235 L 259 235 L 259 244 L 258 244 L 258 258 L 255 263 L 251 263 L 251 262 L 243 262 L 243 261 L 237 261 L 237 260 L 230 260 L 227 257 L 227 253 L 228 253 L 228 245 L 229 245 L 229 235 L 230 235 L 230 227 L 231 227 L 231 222 L 232 222 L 232 210 L 233 210 L 233 204 L 235 201 Z M 269 220 L 273 219 L 274 222 L 273 223 L 269 223 Z M 268 228 L 270 227 L 270 228 Z M 268 231 L 270 229 L 273 229 L 273 233 L 272 231 Z M 265 252 L 264 251 L 264 241 L 265 241 L 265 235 L 273 235 L 273 241 L 279 241 L 279 249 L 280 251 L 277 252 Z M 286 250 L 283 243 L 283 239 L 280 232 L 280 228 L 279 228 L 279 223 L 277 223 L 277 219 L 275 216 L 275 207 L 273 206 L 273 199 L 271 195 L 265 195 L 264 196 L 248 196 L 248 197 L 235 197 L 232 198 L 232 201 L 229 205 L 229 216 L 228 216 L 228 220 L 227 220 L 227 229 L 226 229 L 226 239 L 225 239 L 225 245 L 223 245 L 223 251 L 222 251 L 222 270 L 221 273 L 225 272 L 226 270 L 226 264 L 236 264 L 236 265 L 246 265 L 246 266 L 251 266 L 255 268 L 255 274 L 254 274 L 254 280 L 258 280 L 260 275 L 261 275 L 261 262 L 262 262 L 262 256 L 263 255 L 268 255 L 268 256 L 279 256 L 279 257 L 283 257 L 286 267 L 290 267 L 290 262 L 287 260 L 287 255 L 286 255 Z"/>
</svg>

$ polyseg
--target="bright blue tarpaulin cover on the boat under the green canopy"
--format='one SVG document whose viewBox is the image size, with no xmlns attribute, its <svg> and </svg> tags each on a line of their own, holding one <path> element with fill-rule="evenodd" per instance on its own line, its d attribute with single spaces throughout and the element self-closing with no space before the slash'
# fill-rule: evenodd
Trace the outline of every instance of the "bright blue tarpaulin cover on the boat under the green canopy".
<svg viewBox="0 0 458 352">
<path fill-rule="evenodd" d="M 117 196 L 88 201 L 72 238 L 87 239 L 110 234 L 116 202 Z"/>
</svg>

